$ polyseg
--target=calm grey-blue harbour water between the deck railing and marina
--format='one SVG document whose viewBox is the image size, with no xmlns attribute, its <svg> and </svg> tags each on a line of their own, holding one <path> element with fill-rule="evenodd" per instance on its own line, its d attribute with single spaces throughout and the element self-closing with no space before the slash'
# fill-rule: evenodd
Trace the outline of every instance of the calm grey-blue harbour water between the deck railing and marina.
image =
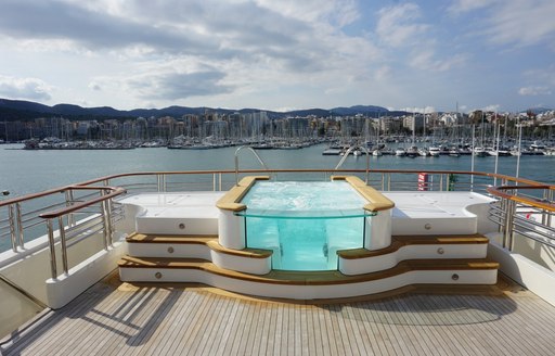
<svg viewBox="0 0 555 356">
<path fill-rule="evenodd" d="M 0 145 L 0 191 L 10 196 L 39 192 L 69 183 L 118 173 L 144 170 L 234 169 L 236 148 L 215 150 L 67 150 L 26 151 L 18 144 Z M 325 145 L 302 150 L 258 151 L 270 168 L 334 168 L 339 156 L 324 156 Z M 514 176 L 517 158 L 499 157 L 498 171 Z M 494 157 L 476 157 L 475 170 L 494 171 Z M 253 155 L 244 151 L 241 168 L 259 168 Z M 349 157 L 344 168 L 366 167 L 365 157 Z M 470 156 L 371 157 L 371 168 L 470 170 Z M 520 177 L 555 183 L 555 156 L 522 156 Z M 1 198 L 0 198 L 1 199 Z"/>
</svg>

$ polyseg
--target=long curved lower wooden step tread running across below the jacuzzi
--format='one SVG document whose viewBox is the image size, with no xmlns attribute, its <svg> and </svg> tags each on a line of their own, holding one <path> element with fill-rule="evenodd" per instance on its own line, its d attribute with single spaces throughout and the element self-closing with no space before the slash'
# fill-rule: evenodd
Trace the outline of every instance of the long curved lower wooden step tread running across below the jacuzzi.
<svg viewBox="0 0 555 356">
<path fill-rule="evenodd" d="M 196 258 L 145 258 L 125 256 L 118 262 L 120 268 L 152 268 L 152 269 L 196 269 L 232 279 L 289 285 L 331 285 L 360 283 L 380 280 L 412 270 L 491 270 L 498 269 L 499 264 L 485 258 L 478 259 L 410 259 L 399 263 L 393 268 L 356 276 L 346 276 L 337 270 L 330 271 L 281 271 L 258 276 L 222 269 L 205 259 Z"/>
</svg>

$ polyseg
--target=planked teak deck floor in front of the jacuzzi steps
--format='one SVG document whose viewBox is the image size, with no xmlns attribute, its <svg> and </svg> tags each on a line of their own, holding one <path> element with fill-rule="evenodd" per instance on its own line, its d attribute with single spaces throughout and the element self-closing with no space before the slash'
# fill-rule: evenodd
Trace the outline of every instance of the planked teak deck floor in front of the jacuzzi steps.
<svg viewBox="0 0 555 356">
<path fill-rule="evenodd" d="M 318 304 L 102 281 L 2 355 L 553 355 L 555 307 L 501 280 Z"/>
</svg>

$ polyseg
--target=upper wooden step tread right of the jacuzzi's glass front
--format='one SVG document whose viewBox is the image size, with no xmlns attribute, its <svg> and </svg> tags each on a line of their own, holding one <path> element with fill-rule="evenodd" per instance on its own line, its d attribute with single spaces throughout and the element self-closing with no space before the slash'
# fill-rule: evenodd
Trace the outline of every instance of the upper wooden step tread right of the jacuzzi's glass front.
<svg viewBox="0 0 555 356">
<path fill-rule="evenodd" d="M 369 258 L 386 255 L 408 245 L 427 244 L 487 244 L 489 239 L 482 234 L 438 234 L 438 236 L 393 236 L 391 244 L 385 249 L 370 251 L 366 249 L 340 250 L 337 254 L 345 259 Z"/>
</svg>

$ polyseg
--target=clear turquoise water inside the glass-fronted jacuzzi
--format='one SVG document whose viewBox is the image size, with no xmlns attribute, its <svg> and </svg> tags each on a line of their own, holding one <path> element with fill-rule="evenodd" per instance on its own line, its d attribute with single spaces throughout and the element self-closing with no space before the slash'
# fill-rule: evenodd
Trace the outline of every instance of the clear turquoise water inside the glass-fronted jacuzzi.
<svg viewBox="0 0 555 356">
<path fill-rule="evenodd" d="M 246 245 L 273 250 L 273 269 L 337 269 L 337 250 L 364 244 L 366 201 L 345 181 L 261 181 L 242 203 Z"/>
</svg>

